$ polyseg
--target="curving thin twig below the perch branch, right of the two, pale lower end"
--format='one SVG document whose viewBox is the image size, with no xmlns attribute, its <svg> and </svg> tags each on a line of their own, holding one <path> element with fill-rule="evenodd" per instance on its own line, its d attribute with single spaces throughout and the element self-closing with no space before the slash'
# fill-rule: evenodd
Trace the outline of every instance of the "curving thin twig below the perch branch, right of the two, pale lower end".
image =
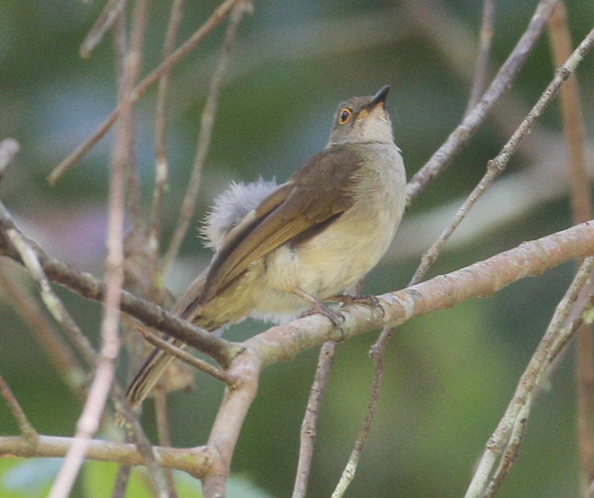
<svg viewBox="0 0 594 498">
<path fill-rule="evenodd" d="M 336 484 L 336 488 L 334 488 L 331 498 L 342 498 L 347 487 L 349 487 L 350 481 L 355 477 L 359 458 L 363 452 L 363 446 L 365 445 L 369 429 L 371 428 L 371 423 L 375 417 L 377 402 L 380 399 L 381 376 L 384 373 L 384 349 L 386 348 L 386 342 L 390 339 L 391 335 L 392 328 L 388 326 L 384 327 L 377 341 L 375 341 L 374 345 L 369 348 L 369 356 L 375 363 L 375 375 L 371 387 L 371 397 L 369 399 L 367 414 L 365 415 L 363 427 L 361 427 L 361 431 L 355 442 L 355 447 L 353 447 L 353 451 L 350 453 L 349 461 L 340 476 L 338 484 Z"/>
</svg>

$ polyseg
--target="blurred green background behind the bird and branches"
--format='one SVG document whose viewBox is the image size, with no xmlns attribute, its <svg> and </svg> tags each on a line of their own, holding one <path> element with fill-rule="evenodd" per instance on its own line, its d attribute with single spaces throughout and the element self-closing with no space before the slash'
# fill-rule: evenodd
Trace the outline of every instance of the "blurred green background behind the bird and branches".
<svg viewBox="0 0 594 498">
<path fill-rule="evenodd" d="M 525 30 L 536 1 L 497 2 L 489 77 Z M 89 59 L 78 47 L 105 2 L 0 0 L 0 138 L 14 137 L 21 153 L 0 185 L 18 225 L 48 253 L 94 275 L 103 273 L 106 192 L 111 135 L 50 187 L 46 175 L 112 111 L 116 83 L 112 37 Z M 151 2 L 142 74 L 160 60 L 170 2 Z M 179 42 L 218 5 L 185 2 Z M 388 109 L 410 178 L 462 117 L 475 63 L 482 2 L 435 0 L 419 23 L 417 2 L 311 0 L 254 2 L 239 27 L 223 86 L 201 187 L 197 227 L 208 204 L 232 179 L 283 181 L 327 140 L 337 102 L 392 85 Z M 574 45 L 594 24 L 594 6 L 567 1 Z M 220 52 L 225 23 L 172 71 L 169 92 L 169 190 L 163 239 L 168 240 L 191 166 L 200 113 Z M 405 216 L 393 249 L 365 282 L 364 292 L 405 286 L 422 252 L 440 233 L 520 119 L 552 77 L 546 34 L 517 82 L 450 170 L 435 179 Z M 579 70 L 587 130 L 594 118 L 594 61 Z M 134 110 L 144 206 L 153 184 L 153 88 Z M 588 144 L 588 151 L 592 148 Z M 444 273 L 525 239 L 571 224 L 565 144 L 553 104 L 491 194 L 476 207 L 431 270 Z M 209 254 L 192 228 L 167 282 L 176 295 Z M 27 275 L 0 261 L 35 292 Z M 460 497 L 544 333 L 575 264 L 522 280 L 484 300 L 463 302 L 399 327 L 386 352 L 381 399 L 356 478 L 347 496 Z M 84 332 L 97 344 L 99 306 L 56 288 Z M 0 291 L 1 292 L 1 291 Z M 2 294 L 0 293 L 0 297 Z M 229 330 L 242 339 L 265 326 Z M 4 297 L 0 301 L 0 373 L 31 423 L 43 434 L 71 435 L 81 405 L 48 361 L 35 333 Z M 368 404 L 376 334 L 339 346 L 320 415 L 308 496 L 329 496 L 352 449 Z M 498 496 L 578 496 L 574 347 L 570 345 L 541 392 L 517 463 Z M 317 361 L 308 351 L 263 374 L 232 464 L 230 496 L 289 496 L 299 428 Z M 121 368 L 121 379 L 124 369 Z M 122 380 L 123 382 L 123 380 Z M 197 376 L 197 389 L 170 396 L 173 444 L 199 445 L 222 386 Z M 152 402 L 143 420 L 153 440 Z M 18 429 L 0 402 L 0 434 Z M 101 435 L 101 434 L 100 434 Z M 0 494 L 43 496 L 57 465 L 0 459 Z M 110 474 L 111 472 L 111 474 Z M 88 465 L 75 496 L 109 496 L 113 468 Z M 181 478 L 186 492 L 196 481 Z M 249 483 L 249 484 L 248 484 Z M 248 490 L 248 486 L 252 486 Z M 136 494 L 140 493 L 140 494 Z M 129 496 L 143 496 L 131 491 Z M 186 495 L 184 495 L 186 496 Z"/>
</svg>

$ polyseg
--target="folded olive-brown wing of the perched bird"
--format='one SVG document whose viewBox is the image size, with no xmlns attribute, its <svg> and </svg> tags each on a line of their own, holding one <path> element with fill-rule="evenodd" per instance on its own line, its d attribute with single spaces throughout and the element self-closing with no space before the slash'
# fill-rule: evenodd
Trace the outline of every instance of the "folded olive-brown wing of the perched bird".
<svg viewBox="0 0 594 498">
<path fill-rule="evenodd" d="M 312 157 L 229 233 L 210 266 L 200 301 L 210 300 L 270 251 L 349 209 L 349 185 L 362 162 L 346 145 Z"/>
</svg>

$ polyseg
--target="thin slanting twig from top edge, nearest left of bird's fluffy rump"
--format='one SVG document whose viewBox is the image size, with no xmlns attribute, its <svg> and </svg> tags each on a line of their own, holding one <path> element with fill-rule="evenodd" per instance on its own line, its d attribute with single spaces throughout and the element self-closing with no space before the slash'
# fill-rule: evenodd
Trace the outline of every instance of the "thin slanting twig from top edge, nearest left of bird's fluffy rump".
<svg viewBox="0 0 594 498">
<path fill-rule="evenodd" d="M 208 96 L 206 97 L 206 104 L 202 112 L 200 119 L 200 133 L 198 133 L 198 145 L 196 147 L 196 156 L 194 159 L 194 167 L 192 168 L 192 175 L 188 182 L 188 188 L 186 190 L 182 206 L 179 209 L 178 221 L 175 225 L 175 232 L 165 256 L 161 261 L 159 267 L 159 273 L 157 279 L 160 280 L 168 270 L 169 264 L 175 259 L 178 254 L 179 246 L 188 231 L 188 226 L 196 201 L 198 199 L 198 189 L 200 188 L 200 178 L 202 175 L 202 168 L 206 157 L 208 155 L 208 149 L 210 147 L 210 140 L 213 133 L 214 116 L 217 110 L 217 103 L 219 101 L 219 94 L 223 85 L 223 78 L 225 77 L 225 71 L 229 63 L 231 52 L 233 50 L 233 42 L 235 41 L 235 33 L 241 22 L 241 18 L 246 12 L 251 11 L 251 4 L 248 1 L 239 2 L 231 11 L 229 25 L 225 34 L 225 41 L 223 42 L 223 52 L 221 53 L 219 64 L 214 70 L 213 78 L 210 82 L 210 90 L 208 90 Z"/>
</svg>

